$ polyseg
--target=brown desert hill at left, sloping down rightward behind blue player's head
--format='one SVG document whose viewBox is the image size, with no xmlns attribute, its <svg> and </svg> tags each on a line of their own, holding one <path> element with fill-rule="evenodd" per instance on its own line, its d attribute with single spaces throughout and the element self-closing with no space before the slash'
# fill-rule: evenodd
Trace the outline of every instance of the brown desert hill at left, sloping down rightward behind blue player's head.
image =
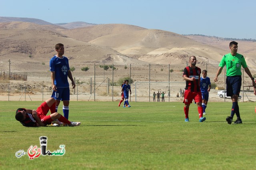
<svg viewBox="0 0 256 170">
<path fill-rule="evenodd" d="M 10 59 L 13 72 L 42 75 L 41 70 L 49 70 L 49 60 L 56 54 L 54 46 L 60 42 L 65 45 L 65 56 L 69 58 L 70 65 L 78 70 L 86 63 L 145 64 L 144 61 L 132 59 L 111 48 L 78 41 L 57 31 L 50 31 L 54 29 L 49 30 L 49 27 L 42 29 L 41 26 L 35 27 L 34 23 L 20 22 L 0 24 L 1 70 L 8 70 L 7 63 Z"/>
</svg>

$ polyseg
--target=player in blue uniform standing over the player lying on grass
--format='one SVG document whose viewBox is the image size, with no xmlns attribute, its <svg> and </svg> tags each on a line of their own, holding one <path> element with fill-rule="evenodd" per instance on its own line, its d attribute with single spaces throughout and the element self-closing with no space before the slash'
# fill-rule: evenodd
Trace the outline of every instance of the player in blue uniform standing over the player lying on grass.
<svg viewBox="0 0 256 170">
<path fill-rule="evenodd" d="M 56 112 L 60 101 L 63 101 L 64 117 L 68 119 L 70 91 L 68 78 L 72 82 L 72 88 L 76 87 L 72 73 L 69 69 L 68 58 L 64 57 L 64 45 L 59 43 L 55 45 L 57 54 L 50 60 L 50 71 L 52 77 L 52 98 L 56 101 Z"/>
</svg>

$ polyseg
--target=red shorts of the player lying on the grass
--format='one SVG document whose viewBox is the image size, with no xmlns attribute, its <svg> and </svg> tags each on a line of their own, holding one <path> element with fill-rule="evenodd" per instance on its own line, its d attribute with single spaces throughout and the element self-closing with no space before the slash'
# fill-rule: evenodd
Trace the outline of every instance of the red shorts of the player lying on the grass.
<svg viewBox="0 0 256 170">
<path fill-rule="evenodd" d="M 46 104 L 46 102 L 44 102 L 36 110 L 39 119 L 41 119 L 45 125 L 50 125 L 52 123 L 52 118 L 50 115 L 47 115 L 49 109 L 50 107 Z"/>
</svg>

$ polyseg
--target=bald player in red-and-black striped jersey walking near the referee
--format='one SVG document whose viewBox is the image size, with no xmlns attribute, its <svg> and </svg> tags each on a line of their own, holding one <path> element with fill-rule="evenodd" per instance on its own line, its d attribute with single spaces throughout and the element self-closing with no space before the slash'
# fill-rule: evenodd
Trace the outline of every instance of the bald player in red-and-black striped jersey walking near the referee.
<svg viewBox="0 0 256 170">
<path fill-rule="evenodd" d="M 203 122 L 206 120 L 206 117 L 203 117 L 203 107 L 202 107 L 202 94 L 200 90 L 200 74 L 201 69 L 196 66 L 196 57 L 189 57 L 189 66 L 184 68 L 183 79 L 186 80 L 186 90 L 184 92 L 184 113 L 185 121 L 188 122 L 188 111 L 189 106 L 192 103 L 193 99 L 196 102 L 199 121 Z"/>
</svg>

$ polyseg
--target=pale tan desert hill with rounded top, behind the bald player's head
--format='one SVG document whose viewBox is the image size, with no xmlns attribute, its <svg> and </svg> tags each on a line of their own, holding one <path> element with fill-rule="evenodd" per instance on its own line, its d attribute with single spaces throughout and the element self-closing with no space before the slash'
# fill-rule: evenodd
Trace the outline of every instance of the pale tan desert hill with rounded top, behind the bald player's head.
<svg viewBox="0 0 256 170">
<path fill-rule="evenodd" d="M 202 56 L 202 63 L 215 63 L 221 59 L 222 53 L 226 53 L 176 33 L 126 24 L 94 25 L 63 30 L 61 33 L 155 64 L 186 63 L 188 55 Z"/>
</svg>

